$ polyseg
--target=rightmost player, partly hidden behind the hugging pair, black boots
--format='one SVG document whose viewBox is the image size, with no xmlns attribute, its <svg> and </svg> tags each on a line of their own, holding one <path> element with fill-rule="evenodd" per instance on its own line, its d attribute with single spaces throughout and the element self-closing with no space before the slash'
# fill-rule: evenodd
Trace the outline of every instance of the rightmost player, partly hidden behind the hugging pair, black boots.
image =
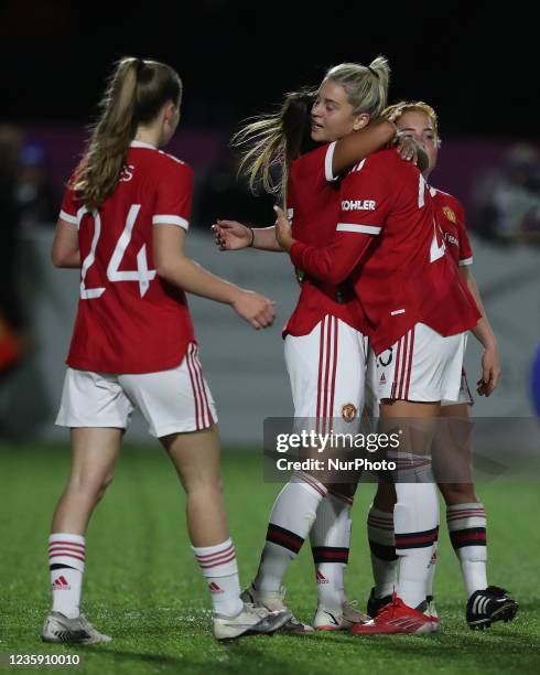
<svg viewBox="0 0 540 675">
<path fill-rule="evenodd" d="M 436 167 L 441 146 L 438 118 L 433 108 L 423 101 L 401 101 L 389 106 L 385 110 L 385 116 L 393 121 L 403 135 L 423 146 L 429 158 L 429 165 L 423 176 L 428 180 Z M 482 378 L 477 390 L 480 396 L 489 396 L 497 386 L 500 375 L 497 341 L 471 271 L 473 251 L 465 227 L 464 210 L 455 197 L 441 190 L 430 188 L 430 193 L 446 249 L 482 313 L 482 319 L 472 332 L 484 349 Z M 447 428 L 450 433 L 444 433 L 443 426 L 442 438 L 434 440 L 433 460 L 439 488 L 446 503 L 446 523 L 451 542 L 460 560 L 467 592 L 466 621 L 471 628 L 485 628 L 493 621 L 514 619 L 517 603 L 507 597 L 507 591 L 487 585 L 486 514 L 484 505 L 476 495 L 471 474 L 468 426 L 465 421 L 471 405 L 473 398 L 463 373 L 458 403 L 443 405 L 441 408 L 441 417 L 451 420 Z M 452 482 L 442 482 L 445 476 Z M 460 482 L 456 482 L 457 480 Z M 368 539 L 376 582 L 368 602 L 368 613 L 371 615 L 391 600 L 396 583 L 393 502 L 393 488 L 388 483 L 380 483 L 368 515 Z M 435 567 L 432 565 L 430 569 L 432 574 L 428 596 L 431 602 Z"/>
</svg>

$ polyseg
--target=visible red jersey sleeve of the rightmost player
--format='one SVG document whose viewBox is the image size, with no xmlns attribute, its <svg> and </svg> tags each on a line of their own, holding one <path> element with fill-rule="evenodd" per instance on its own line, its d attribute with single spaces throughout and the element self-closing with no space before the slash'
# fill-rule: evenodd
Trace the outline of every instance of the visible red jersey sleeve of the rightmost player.
<svg viewBox="0 0 540 675">
<path fill-rule="evenodd" d="M 473 249 L 465 224 L 465 211 L 458 200 L 435 188 L 430 188 L 436 221 L 443 232 L 446 250 L 456 265 L 472 265 Z"/>
</svg>

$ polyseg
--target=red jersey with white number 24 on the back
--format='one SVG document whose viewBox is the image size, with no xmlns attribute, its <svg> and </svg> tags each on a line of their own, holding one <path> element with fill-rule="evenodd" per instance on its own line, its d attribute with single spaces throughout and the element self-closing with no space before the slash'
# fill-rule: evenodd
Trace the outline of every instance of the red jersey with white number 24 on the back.
<svg viewBox="0 0 540 675">
<path fill-rule="evenodd" d="M 69 366 L 152 373 L 180 365 L 193 325 L 184 293 L 153 269 L 152 228 L 187 229 L 192 192 L 187 164 L 138 141 L 98 212 L 67 190 L 60 217 L 78 228 L 82 260 Z"/>
</svg>

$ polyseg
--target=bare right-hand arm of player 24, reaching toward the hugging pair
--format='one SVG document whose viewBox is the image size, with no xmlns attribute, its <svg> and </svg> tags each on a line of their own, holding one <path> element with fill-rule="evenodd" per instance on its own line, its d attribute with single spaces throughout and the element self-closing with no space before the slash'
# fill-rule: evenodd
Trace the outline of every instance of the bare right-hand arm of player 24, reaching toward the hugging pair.
<svg viewBox="0 0 540 675">
<path fill-rule="evenodd" d="M 201 267 L 184 254 L 184 239 L 185 231 L 176 224 L 153 226 L 153 259 L 161 279 L 190 293 L 229 304 L 256 329 L 272 324 L 273 302 Z"/>
</svg>

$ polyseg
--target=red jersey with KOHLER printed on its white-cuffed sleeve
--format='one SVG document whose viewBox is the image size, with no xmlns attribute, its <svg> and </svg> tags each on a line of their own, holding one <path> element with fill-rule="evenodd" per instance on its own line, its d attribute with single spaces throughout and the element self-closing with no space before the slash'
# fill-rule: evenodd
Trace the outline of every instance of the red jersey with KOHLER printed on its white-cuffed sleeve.
<svg viewBox="0 0 540 675">
<path fill-rule="evenodd" d="M 371 154 L 344 179 L 332 244 L 315 248 L 298 242 L 291 258 L 334 283 L 356 276 L 355 291 L 377 354 L 415 323 L 453 335 L 479 318 L 446 255 L 429 186 L 395 150 Z"/>
</svg>

